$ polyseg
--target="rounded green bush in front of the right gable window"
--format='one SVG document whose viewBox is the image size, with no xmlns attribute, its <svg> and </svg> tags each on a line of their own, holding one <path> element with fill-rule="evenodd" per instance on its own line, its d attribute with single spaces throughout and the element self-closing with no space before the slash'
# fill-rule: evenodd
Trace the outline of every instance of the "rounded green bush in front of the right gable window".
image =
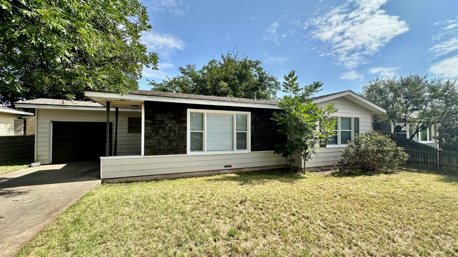
<svg viewBox="0 0 458 257">
<path fill-rule="evenodd" d="M 375 131 L 356 135 L 341 152 L 337 165 L 340 172 L 388 172 L 409 158 L 389 136 Z"/>
</svg>

